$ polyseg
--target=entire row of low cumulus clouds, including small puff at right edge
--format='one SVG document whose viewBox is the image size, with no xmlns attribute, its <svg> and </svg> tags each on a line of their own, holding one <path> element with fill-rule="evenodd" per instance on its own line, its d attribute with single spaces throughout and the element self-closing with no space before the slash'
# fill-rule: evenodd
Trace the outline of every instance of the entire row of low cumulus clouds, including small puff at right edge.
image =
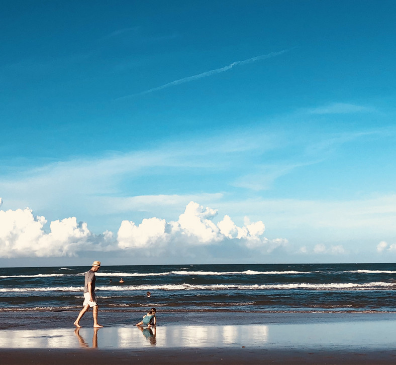
<svg viewBox="0 0 396 365">
<path fill-rule="evenodd" d="M 320 261 L 324 255 L 345 257 L 350 253 L 343 245 L 323 243 L 297 248 L 287 238 L 265 237 L 261 220 L 251 222 L 245 217 L 238 226 L 226 214 L 215 223 L 217 214 L 216 209 L 190 201 L 175 221 L 151 217 L 136 224 L 123 220 L 116 234 L 109 230 L 95 234 L 76 217 L 51 221 L 46 229 L 46 218 L 35 216 L 30 208 L 0 210 L 0 258 L 78 258 L 90 252 L 95 256 L 121 253 L 124 258 L 149 261 L 165 256 L 187 261 L 205 257 L 208 262 L 220 256 L 232 259 L 231 252 L 239 253 L 240 259 L 262 259 L 280 250 L 282 255 L 315 255 Z M 381 241 L 373 252 L 381 255 L 395 247 Z"/>
</svg>

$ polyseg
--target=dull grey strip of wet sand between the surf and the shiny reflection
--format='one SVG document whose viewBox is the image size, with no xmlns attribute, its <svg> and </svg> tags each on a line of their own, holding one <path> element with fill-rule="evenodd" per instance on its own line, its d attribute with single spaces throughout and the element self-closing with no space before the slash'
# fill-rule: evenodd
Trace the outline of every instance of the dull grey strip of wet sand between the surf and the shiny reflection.
<svg viewBox="0 0 396 365">
<path fill-rule="evenodd" d="M 8 310 L 0 311 L 0 331 L 7 329 L 75 328 L 81 308 L 76 310 Z M 99 308 L 98 320 L 105 326 L 131 325 L 139 322 L 145 310 L 117 310 Z M 219 325 L 327 323 L 345 321 L 396 320 L 395 312 L 374 311 L 166 311 L 158 309 L 158 325 L 207 323 Z M 92 310 L 81 319 L 82 327 L 90 327 Z"/>
</svg>

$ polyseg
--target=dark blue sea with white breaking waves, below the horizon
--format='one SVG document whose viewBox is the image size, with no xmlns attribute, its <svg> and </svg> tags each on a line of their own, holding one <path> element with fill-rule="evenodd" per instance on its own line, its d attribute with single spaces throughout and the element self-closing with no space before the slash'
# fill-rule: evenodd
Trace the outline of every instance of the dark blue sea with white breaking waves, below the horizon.
<svg viewBox="0 0 396 365">
<path fill-rule="evenodd" d="M 0 311 L 78 310 L 89 269 L 0 268 Z M 101 310 L 396 312 L 395 278 L 396 264 L 103 266 L 96 295 Z"/>
</svg>

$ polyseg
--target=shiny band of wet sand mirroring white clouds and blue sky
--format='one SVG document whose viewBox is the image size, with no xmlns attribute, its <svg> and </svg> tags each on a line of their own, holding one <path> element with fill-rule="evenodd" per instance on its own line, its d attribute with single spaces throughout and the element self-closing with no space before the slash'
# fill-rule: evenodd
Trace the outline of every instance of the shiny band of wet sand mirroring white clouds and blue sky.
<svg viewBox="0 0 396 365">
<path fill-rule="evenodd" d="M 270 325 L 109 326 L 0 331 L 0 348 L 394 348 L 396 321 Z"/>
</svg>

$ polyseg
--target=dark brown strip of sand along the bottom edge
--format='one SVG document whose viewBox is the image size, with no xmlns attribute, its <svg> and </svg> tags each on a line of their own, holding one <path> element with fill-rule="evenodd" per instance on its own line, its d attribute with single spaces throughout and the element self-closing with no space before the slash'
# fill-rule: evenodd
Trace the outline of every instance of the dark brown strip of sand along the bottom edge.
<svg viewBox="0 0 396 365">
<path fill-rule="evenodd" d="M 394 364 L 395 351 L 265 349 L 1 350 L 3 364 Z"/>
</svg>

